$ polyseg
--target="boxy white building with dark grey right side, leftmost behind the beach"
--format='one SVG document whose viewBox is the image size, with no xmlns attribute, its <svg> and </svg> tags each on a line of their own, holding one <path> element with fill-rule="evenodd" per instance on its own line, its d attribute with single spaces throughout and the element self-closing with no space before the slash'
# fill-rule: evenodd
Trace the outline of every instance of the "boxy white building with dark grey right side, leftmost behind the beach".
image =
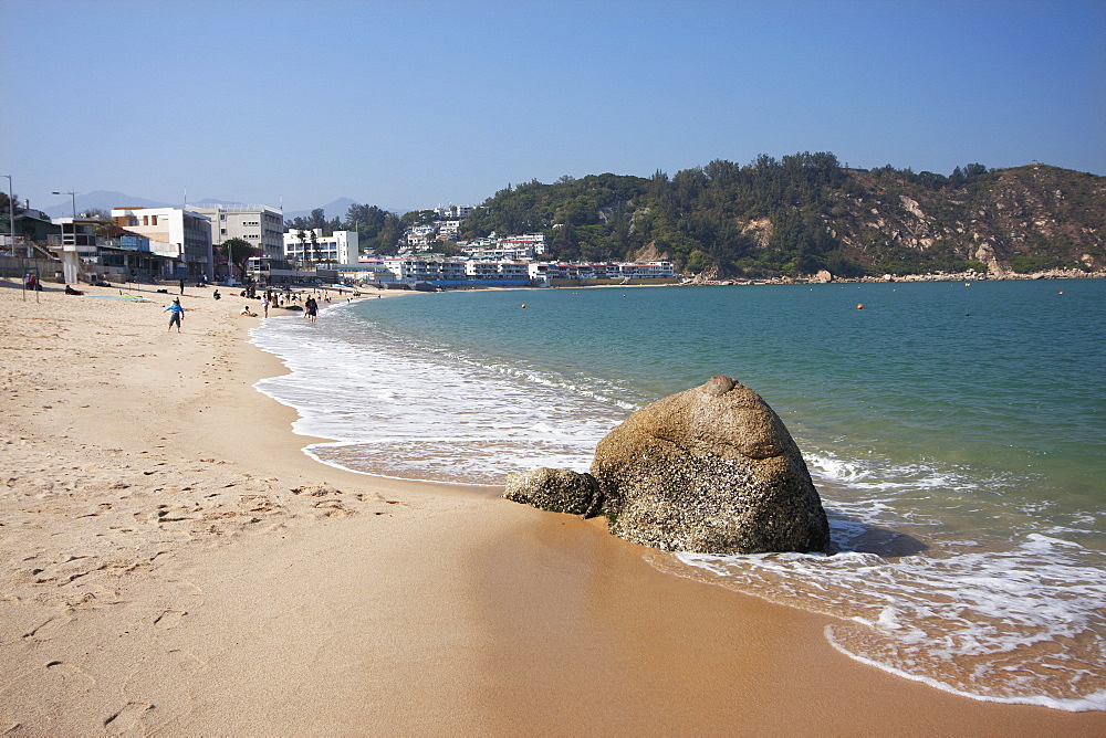
<svg viewBox="0 0 1106 738">
<path fill-rule="evenodd" d="M 180 208 L 114 208 L 121 226 L 149 239 L 152 253 L 177 261 L 174 276 L 215 278 L 211 219 Z"/>
</svg>

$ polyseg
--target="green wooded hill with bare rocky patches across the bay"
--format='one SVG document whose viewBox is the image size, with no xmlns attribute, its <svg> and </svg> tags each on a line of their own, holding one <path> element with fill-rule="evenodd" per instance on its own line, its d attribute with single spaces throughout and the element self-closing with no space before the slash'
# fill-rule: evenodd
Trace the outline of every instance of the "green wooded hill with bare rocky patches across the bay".
<svg viewBox="0 0 1106 738">
<path fill-rule="evenodd" d="M 556 259 L 668 257 L 684 272 L 757 278 L 1103 268 L 1104 229 L 1106 177 L 1037 164 L 857 170 L 804 152 L 509 186 L 460 236 L 544 232 Z"/>
</svg>

